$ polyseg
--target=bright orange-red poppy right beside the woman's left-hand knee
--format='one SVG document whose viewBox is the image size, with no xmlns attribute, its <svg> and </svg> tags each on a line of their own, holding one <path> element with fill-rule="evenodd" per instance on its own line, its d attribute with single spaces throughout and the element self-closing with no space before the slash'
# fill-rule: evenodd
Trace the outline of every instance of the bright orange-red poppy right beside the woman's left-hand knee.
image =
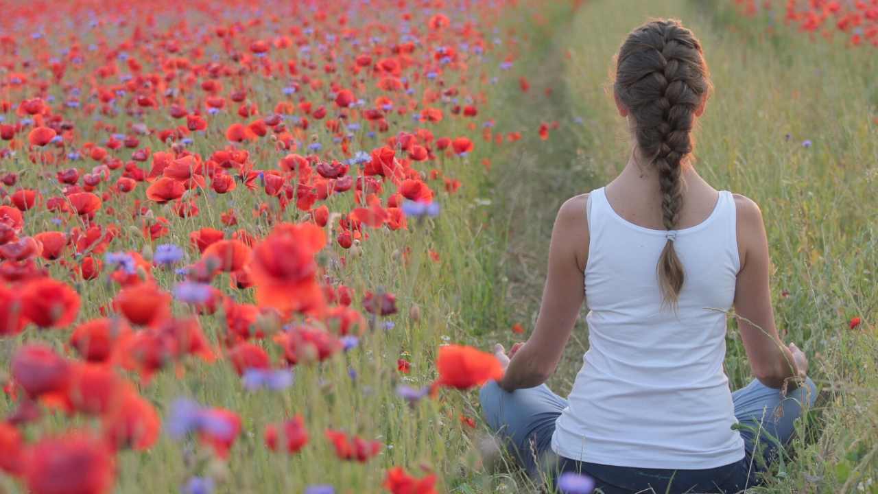
<svg viewBox="0 0 878 494">
<path fill-rule="evenodd" d="M 470 389 L 503 377 L 503 366 L 497 357 L 464 345 L 440 346 L 436 369 L 439 384 L 457 389 Z"/>
</svg>

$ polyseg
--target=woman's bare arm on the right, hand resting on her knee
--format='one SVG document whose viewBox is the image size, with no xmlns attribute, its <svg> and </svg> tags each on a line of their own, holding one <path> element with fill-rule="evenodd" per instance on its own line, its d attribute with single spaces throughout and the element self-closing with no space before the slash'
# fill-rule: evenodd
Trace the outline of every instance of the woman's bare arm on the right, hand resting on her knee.
<svg viewBox="0 0 878 494">
<path fill-rule="evenodd" d="M 753 374 L 769 388 L 787 390 L 804 378 L 808 360 L 795 345 L 784 345 L 774 326 L 768 284 L 768 239 L 762 212 L 755 202 L 735 194 L 738 208 L 738 252 L 741 270 L 735 287 L 735 312 L 741 340 Z"/>
</svg>

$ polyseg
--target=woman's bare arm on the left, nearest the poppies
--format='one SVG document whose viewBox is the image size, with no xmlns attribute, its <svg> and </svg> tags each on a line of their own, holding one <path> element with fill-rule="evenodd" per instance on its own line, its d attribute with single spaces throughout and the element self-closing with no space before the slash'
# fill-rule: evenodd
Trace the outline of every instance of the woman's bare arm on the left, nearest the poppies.
<svg viewBox="0 0 878 494">
<path fill-rule="evenodd" d="M 508 392 L 543 384 L 558 367 L 585 300 L 588 258 L 588 194 L 567 200 L 558 211 L 549 247 L 549 269 L 536 328 L 509 361 L 498 384 Z M 498 356 L 499 357 L 499 356 Z"/>
</svg>

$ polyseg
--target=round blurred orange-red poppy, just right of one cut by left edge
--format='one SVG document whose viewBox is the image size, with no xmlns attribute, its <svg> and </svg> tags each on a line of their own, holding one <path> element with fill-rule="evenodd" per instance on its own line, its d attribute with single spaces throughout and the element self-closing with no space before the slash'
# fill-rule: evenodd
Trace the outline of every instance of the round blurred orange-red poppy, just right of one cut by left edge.
<svg viewBox="0 0 878 494">
<path fill-rule="evenodd" d="M 76 320 L 79 294 L 72 287 L 51 278 L 25 283 L 21 289 L 23 314 L 40 328 L 64 327 Z"/>
</svg>

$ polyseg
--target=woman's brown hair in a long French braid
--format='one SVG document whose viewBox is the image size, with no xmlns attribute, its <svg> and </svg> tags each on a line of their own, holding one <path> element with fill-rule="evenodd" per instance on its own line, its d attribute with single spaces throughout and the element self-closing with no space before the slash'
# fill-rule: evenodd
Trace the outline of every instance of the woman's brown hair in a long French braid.
<svg viewBox="0 0 878 494">
<path fill-rule="evenodd" d="M 695 113 L 710 91 L 702 46 L 673 19 L 632 31 L 619 48 L 613 89 L 634 121 L 631 131 L 642 156 L 659 171 L 665 228 L 674 230 L 683 204 L 680 168 L 692 153 Z M 676 307 L 683 265 L 669 234 L 656 272 L 664 301 Z"/>
</svg>

